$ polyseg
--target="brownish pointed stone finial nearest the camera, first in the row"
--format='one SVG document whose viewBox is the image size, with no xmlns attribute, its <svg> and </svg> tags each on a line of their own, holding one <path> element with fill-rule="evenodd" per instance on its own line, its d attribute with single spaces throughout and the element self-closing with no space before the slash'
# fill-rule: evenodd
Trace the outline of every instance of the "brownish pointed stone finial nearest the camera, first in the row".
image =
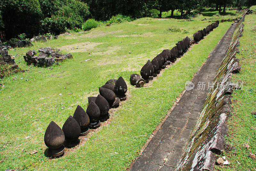
<svg viewBox="0 0 256 171">
<path fill-rule="evenodd" d="M 49 157 L 58 157 L 64 153 L 65 135 L 59 125 L 51 121 L 44 134 L 44 143 L 49 148 Z"/>
</svg>

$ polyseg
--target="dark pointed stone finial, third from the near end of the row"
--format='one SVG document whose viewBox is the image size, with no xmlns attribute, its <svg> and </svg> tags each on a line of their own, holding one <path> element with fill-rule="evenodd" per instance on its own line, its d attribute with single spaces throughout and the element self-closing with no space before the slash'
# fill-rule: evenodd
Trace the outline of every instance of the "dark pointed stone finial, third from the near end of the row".
<svg viewBox="0 0 256 171">
<path fill-rule="evenodd" d="M 87 135 L 90 132 L 90 118 L 81 106 L 77 105 L 73 118 L 76 120 L 81 128 L 80 136 Z"/>
</svg>

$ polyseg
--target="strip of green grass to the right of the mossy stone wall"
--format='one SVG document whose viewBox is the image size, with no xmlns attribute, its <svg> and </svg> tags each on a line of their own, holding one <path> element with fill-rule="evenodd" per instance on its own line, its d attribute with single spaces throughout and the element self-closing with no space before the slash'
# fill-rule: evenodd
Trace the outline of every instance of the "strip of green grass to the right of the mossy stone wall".
<svg viewBox="0 0 256 171">
<path fill-rule="evenodd" d="M 243 81 L 244 85 L 242 90 L 235 90 L 232 94 L 233 112 L 228 121 L 227 136 L 228 145 L 235 147 L 236 151 L 224 153 L 230 165 L 218 168 L 223 171 L 255 171 L 256 168 L 256 160 L 249 157 L 250 152 L 256 153 L 256 115 L 252 114 L 256 111 L 256 32 L 253 30 L 256 28 L 256 15 L 246 15 L 244 25 L 240 54 L 236 55 L 242 69 L 233 76 L 234 82 Z"/>
</svg>

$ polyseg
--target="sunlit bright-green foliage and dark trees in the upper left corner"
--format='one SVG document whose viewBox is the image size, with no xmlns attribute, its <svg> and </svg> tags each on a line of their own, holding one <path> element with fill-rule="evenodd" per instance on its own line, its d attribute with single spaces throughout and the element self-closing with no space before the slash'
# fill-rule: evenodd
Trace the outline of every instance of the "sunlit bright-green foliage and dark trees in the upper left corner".
<svg viewBox="0 0 256 171">
<path fill-rule="evenodd" d="M 6 40 L 21 33 L 32 37 L 76 30 L 90 14 L 87 4 L 80 0 L 0 0 L 0 11 L 4 25 L 0 32 Z"/>
</svg>

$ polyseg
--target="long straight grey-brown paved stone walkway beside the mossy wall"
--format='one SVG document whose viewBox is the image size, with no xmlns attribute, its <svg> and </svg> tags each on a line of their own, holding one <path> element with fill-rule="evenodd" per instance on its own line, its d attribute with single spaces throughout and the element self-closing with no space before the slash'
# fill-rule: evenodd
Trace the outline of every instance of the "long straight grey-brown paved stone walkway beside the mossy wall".
<svg viewBox="0 0 256 171">
<path fill-rule="evenodd" d="M 220 67 L 236 25 L 237 23 L 234 23 L 230 26 L 202 68 L 197 71 L 194 79 L 191 80 L 195 84 L 195 89 L 185 91 L 180 101 L 135 161 L 130 171 L 175 170 L 202 111 L 204 101 L 209 92 L 207 89 L 208 82 L 212 83 Z M 204 90 L 197 90 L 196 85 L 201 82 L 206 82 L 206 88 Z M 165 158 L 168 160 L 166 161 Z"/>
</svg>

